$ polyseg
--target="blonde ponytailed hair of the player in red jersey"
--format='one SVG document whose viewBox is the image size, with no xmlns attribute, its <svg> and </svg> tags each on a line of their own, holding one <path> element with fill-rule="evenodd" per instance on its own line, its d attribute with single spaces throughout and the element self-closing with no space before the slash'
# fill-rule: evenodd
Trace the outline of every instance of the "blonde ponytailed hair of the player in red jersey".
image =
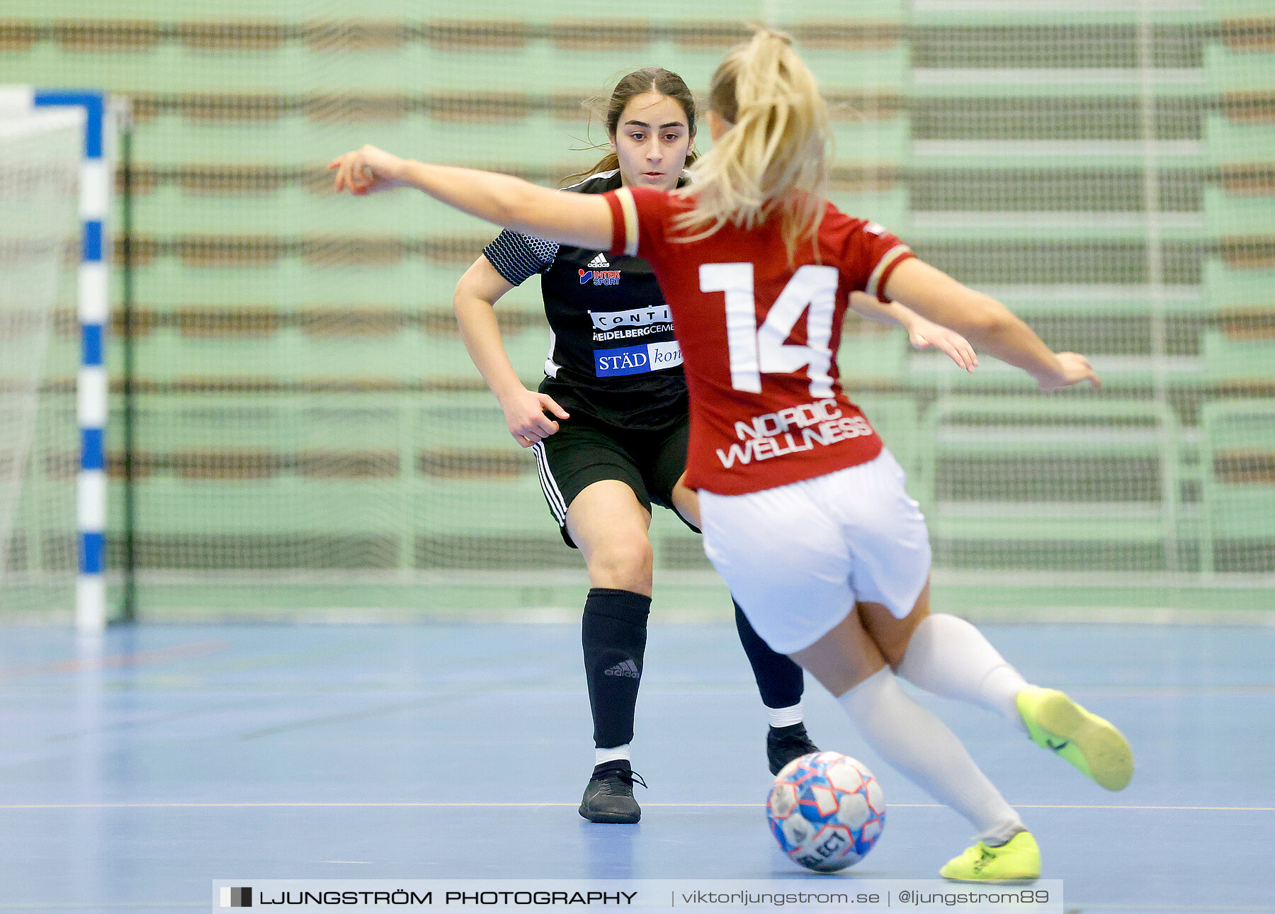
<svg viewBox="0 0 1275 914">
<path fill-rule="evenodd" d="M 825 207 L 831 129 L 815 74 L 789 36 L 759 28 L 713 74 L 709 108 L 731 129 L 690 170 L 680 192 L 695 205 L 676 218 L 677 240 L 706 238 L 728 222 L 754 228 L 778 213 L 792 263 L 803 240 L 815 246 Z"/>
</svg>

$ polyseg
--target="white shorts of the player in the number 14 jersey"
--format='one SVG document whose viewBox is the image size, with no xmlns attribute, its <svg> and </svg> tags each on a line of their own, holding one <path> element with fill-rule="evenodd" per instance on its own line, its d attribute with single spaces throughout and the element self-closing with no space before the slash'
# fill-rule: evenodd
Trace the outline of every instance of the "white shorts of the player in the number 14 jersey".
<svg viewBox="0 0 1275 914">
<path fill-rule="evenodd" d="M 882 449 L 868 463 L 748 495 L 700 491 L 704 552 L 752 627 L 792 654 L 856 603 L 903 618 L 929 577 L 929 534 L 907 475 Z"/>
</svg>

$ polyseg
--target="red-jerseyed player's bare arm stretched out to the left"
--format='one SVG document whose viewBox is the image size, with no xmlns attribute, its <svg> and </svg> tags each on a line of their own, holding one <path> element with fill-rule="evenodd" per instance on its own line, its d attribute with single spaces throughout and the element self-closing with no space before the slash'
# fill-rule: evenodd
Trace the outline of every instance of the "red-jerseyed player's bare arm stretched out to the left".
<svg viewBox="0 0 1275 914">
<path fill-rule="evenodd" d="M 335 189 L 356 196 L 409 186 L 502 228 L 593 251 L 611 247 L 611 207 L 597 194 L 558 194 L 509 175 L 413 162 L 371 145 L 328 167 L 337 172 Z"/>
</svg>

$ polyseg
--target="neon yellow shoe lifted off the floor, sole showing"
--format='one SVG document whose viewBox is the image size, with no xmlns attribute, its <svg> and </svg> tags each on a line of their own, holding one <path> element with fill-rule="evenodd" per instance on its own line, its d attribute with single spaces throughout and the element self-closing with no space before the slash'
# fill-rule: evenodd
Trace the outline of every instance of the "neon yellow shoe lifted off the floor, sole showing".
<svg viewBox="0 0 1275 914">
<path fill-rule="evenodd" d="M 1133 750 L 1109 722 L 1090 714 L 1054 688 L 1019 692 L 1019 714 L 1031 742 L 1066 758 L 1108 790 L 1123 790 L 1133 776 Z"/>
</svg>

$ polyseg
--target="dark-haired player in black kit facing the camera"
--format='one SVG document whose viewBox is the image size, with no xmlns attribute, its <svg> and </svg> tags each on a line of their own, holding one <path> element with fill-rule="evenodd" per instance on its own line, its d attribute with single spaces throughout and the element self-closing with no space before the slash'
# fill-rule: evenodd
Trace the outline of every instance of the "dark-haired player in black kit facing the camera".
<svg viewBox="0 0 1275 914">
<path fill-rule="evenodd" d="M 629 74 L 607 106 L 611 153 L 567 190 L 680 186 L 683 166 L 695 161 L 695 99 L 676 74 L 655 68 Z M 537 273 L 552 330 L 538 393 L 519 381 L 492 307 Z M 641 780 L 630 764 L 630 741 L 650 611 L 652 504 L 699 529 L 696 493 L 681 482 L 687 393 L 668 308 L 644 260 L 509 231 L 464 274 L 454 303 L 474 365 L 500 400 L 510 433 L 533 449 L 562 538 L 580 549 L 589 570 L 581 640 L 597 755 L 580 815 L 636 822 L 641 811 L 632 784 Z M 914 345 L 936 345 L 958 365 L 973 366 L 960 335 L 901 305 L 863 296 L 854 306 L 903 324 Z M 802 723 L 802 672 L 766 646 L 738 606 L 734 617 L 770 718 L 766 756 L 774 774 L 817 751 Z"/>
</svg>

